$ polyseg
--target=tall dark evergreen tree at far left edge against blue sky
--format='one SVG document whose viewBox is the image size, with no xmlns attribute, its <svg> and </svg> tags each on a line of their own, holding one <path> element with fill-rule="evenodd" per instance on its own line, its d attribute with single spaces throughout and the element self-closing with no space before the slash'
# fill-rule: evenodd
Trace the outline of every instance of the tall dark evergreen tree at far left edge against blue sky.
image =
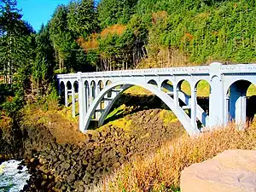
<svg viewBox="0 0 256 192">
<path fill-rule="evenodd" d="M 13 74 L 23 63 L 26 55 L 27 38 L 31 35 L 32 27 L 21 20 L 20 10 L 16 9 L 15 0 L 0 2 L 0 61 L 5 77 L 5 83 L 12 83 Z M 24 49 L 22 49 L 24 48 Z M 26 57 L 25 57 L 26 58 Z"/>
</svg>

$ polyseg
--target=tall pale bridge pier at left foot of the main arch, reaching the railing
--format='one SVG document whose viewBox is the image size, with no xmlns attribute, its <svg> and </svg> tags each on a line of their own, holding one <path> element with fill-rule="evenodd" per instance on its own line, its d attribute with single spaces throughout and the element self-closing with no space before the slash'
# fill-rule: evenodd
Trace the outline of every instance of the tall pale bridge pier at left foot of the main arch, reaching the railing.
<svg viewBox="0 0 256 192">
<path fill-rule="evenodd" d="M 79 81 L 79 130 L 84 132 L 84 84 L 81 79 L 81 72 L 78 73 Z"/>
</svg>

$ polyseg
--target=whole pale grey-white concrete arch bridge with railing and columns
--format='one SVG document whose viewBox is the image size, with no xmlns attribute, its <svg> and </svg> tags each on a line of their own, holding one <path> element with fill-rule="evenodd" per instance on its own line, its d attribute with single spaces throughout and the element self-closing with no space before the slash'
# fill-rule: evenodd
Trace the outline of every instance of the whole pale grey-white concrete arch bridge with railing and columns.
<svg viewBox="0 0 256 192">
<path fill-rule="evenodd" d="M 158 96 L 172 110 L 190 136 L 200 134 L 197 120 L 204 127 L 226 125 L 235 120 L 246 123 L 247 89 L 256 84 L 256 64 L 223 65 L 214 62 L 201 67 L 172 67 L 126 71 L 69 73 L 57 75 L 59 94 L 72 96 L 75 116 L 75 94 L 79 95 L 79 129 L 85 132 L 94 119 L 102 125 L 121 94 L 133 85 L 143 87 Z M 190 96 L 181 90 L 186 80 Z M 205 80 L 210 85 L 209 111 L 197 104 L 197 84 Z M 180 103 L 183 105 L 180 105 Z M 189 110 L 189 114 L 185 113 Z"/>
</svg>

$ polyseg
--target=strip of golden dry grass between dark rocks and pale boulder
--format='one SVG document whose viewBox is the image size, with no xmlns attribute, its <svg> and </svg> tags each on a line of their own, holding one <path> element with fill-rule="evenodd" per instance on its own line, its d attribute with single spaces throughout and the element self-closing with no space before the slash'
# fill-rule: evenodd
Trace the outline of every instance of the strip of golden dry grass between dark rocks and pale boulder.
<svg viewBox="0 0 256 192">
<path fill-rule="evenodd" d="M 184 167 L 207 160 L 226 149 L 256 149 L 256 123 L 244 131 L 236 125 L 166 143 L 144 160 L 126 164 L 91 191 L 177 191 Z"/>
</svg>

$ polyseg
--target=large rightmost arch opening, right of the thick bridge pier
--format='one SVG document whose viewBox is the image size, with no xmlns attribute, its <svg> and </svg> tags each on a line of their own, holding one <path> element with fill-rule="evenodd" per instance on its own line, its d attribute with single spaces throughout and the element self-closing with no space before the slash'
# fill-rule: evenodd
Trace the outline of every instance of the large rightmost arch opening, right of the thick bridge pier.
<svg viewBox="0 0 256 192">
<path fill-rule="evenodd" d="M 256 113 L 253 106 L 256 103 L 255 84 L 247 80 L 237 80 L 230 84 L 226 92 L 226 118 L 235 121 L 243 127 L 252 122 Z"/>
</svg>

